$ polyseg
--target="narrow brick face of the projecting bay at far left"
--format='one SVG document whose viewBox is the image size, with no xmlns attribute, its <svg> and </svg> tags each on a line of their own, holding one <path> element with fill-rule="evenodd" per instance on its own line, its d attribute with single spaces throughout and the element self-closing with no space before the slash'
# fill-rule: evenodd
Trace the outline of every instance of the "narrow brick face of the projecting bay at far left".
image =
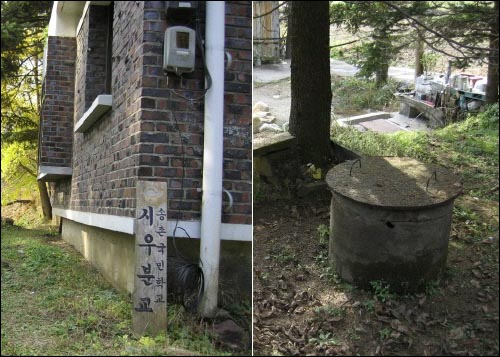
<svg viewBox="0 0 500 357">
<path fill-rule="evenodd" d="M 71 167 L 75 39 L 50 36 L 43 83 L 39 165 Z"/>
</svg>

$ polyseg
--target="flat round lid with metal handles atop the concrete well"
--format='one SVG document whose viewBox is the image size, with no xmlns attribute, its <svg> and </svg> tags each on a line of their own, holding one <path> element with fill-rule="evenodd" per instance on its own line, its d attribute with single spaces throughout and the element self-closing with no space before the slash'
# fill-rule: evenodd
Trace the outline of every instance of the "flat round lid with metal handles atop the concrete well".
<svg viewBox="0 0 500 357">
<path fill-rule="evenodd" d="M 456 198 L 462 183 L 446 168 L 406 157 L 362 157 L 326 175 L 333 192 L 388 208 L 434 206 Z"/>
</svg>

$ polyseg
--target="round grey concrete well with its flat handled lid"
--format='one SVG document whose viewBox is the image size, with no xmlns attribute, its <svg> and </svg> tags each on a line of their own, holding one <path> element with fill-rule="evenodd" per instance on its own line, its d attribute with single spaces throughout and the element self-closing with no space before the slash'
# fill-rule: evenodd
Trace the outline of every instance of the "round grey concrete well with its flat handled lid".
<svg viewBox="0 0 500 357">
<path fill-rule="evenodd" d="M 415 291 L 445 268 L 453 201 L 462 188 L 446 169 L 408 158 L 361 158 L 330 170 L 327 183 L 329 258 L 343 280 Z"/>
</svg>

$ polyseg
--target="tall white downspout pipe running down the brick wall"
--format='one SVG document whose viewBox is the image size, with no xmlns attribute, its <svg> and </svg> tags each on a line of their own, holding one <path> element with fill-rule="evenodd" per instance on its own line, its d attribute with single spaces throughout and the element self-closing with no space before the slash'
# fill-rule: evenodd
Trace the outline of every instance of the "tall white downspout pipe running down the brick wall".
<svg viewBox="0 0 500 357">
<path fill-rule="evenodd" d="M 217 312 L 222 211 L 225 10 L 224 1 L 207 1 L 206 6 L 205 53 L 212 86 L 205 96 L 200 242 L 205 291 L 200 312 L 213 317 Z"/>
</svg>

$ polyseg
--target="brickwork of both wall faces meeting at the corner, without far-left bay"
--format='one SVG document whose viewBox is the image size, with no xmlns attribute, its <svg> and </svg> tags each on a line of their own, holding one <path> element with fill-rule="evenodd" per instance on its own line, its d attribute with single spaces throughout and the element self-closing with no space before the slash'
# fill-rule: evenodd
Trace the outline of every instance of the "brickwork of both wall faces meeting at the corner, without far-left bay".
<svg viewBox="0 0 500 357">
<path fill-rule="evenodd" d="M 204 3 L 200 6 L 204 37 Z M 185 74 L 182 83 L 162 69 L 165 29 L 180 24 L 179 19 L 167 19 L 162 1 L 114 2 L 113 110 L 88 132 L 75 134 L 71 200 L 66 207 L 132 217 L 136 180 L 161 180 L 168 182 L 170 219 L 200 218 L 203 99 L 190 102 L 174 93 L 188 98 L 202 94 L 205 77 L 199 47 L 196 69 Z M 226 2 L 226 25 L 226 48 L 233 64 L 225 77 L 223 184 L 234 206 L 223 214 L 223 222 L 251 224 L 251 3 Z M 84 51 L 78 55 L 84 57 Z M 80 58 L 77 78 L 78 67 L 84 65 L 87 71 L 92 68 Z M 78 83 L 82 81 L 83 77 Z M 80 107 L 82 93 L 75 94 Z M 63 189 L 60 186 L 56 193 Z"/>
</svg>

